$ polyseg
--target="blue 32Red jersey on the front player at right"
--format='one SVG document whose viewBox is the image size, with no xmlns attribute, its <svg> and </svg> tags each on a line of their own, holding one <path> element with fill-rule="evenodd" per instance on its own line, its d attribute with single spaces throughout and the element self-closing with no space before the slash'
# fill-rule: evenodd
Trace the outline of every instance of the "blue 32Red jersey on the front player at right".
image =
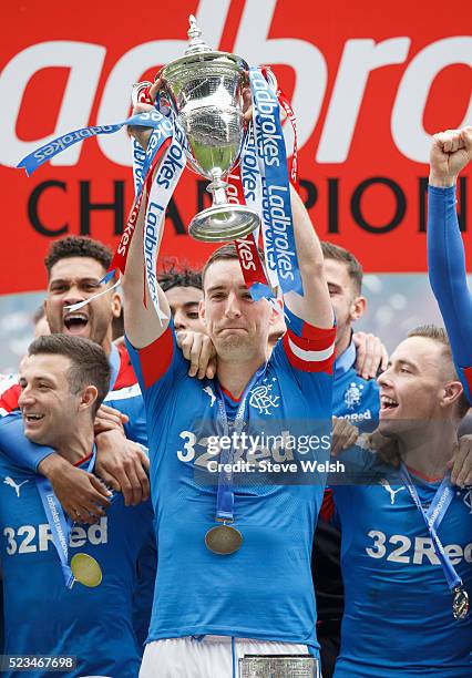
<svg viewBox="0 0 472 678">
<path fill-rule="evenodd" d="M 355 448 L 332 484 L 341 523 L 345 616 L 336 678 L 470 678 L 472 614 L 456 620 L 424 520 L 398 471 Z M 351 466 L 352 468 L 352 466 Z M 413 476 L 427 508 L 440 485 Z M 346 479 L 347 482 L 347 479 Z M 438 535 L 472 593 L 472 490 L 455 489 Z"/>
</svg>

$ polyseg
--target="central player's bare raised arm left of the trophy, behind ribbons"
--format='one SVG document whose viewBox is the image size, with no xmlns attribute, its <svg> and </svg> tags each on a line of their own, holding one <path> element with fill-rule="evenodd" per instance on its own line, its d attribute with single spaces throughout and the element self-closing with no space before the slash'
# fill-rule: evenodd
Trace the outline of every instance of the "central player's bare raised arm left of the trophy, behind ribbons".
<svg viewBox="0 0 472 678">
<path fill-rule="evenodd" d="M 155 83 L 151 88 L 150 94 L 154 100 L 157 93 L 158 85 Z M 134 113 L 141 113 L 143 111 L 151 110 L 150 104 L 138 104 L 134 109 Z M 150 138 L 150 131 L 142 127 L 130 129 L 131 134 L 140 142 L 145 148 Z M 158 172 L 158 167 L 156 170 Z M 144 187 L 144 196 L 141 203 L 141 209 L 136 219 L 134 228 L 134 235 L 130 245 L 127 255 L 126 271 L 123 277 L 123 298 L 124 298 L 124 329 L 127 339 L 135 348 L 144 348 L 156 339 L 158 339 L 168 327 L 168 319 L 171 317 L 171 309 L 167 304 L 167 299 L 157 284 L 156 271 L 155 275 L 155 291 L 157 294 L 158 306 L 167 320 L 160 320 L 156 310 L 151 299 L 151 291 L 147 286 L 145 275 L 145 261 L 143 254 L 143 238 L 145 233 L 145 205 L 147 198 L 147 187 Z M 152 207 L 152 206 L 151 206 Z M 161 242 L 157 244 L 160 247 Z"/>
</svg>

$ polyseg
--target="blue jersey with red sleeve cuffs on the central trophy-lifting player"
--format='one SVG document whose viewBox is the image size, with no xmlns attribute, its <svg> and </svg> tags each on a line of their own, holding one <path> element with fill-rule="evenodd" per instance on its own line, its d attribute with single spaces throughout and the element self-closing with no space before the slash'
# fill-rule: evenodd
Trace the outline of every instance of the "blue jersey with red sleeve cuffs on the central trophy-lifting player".
<svg viewBox="0 0 472 678">
<path fill-rule="evenodd" d="M 248 435 L 270 427 L 287 436 L 302 428 L 305 444 L 311 436 L 316 459 L 327 462 L 335 333 L 291 317 L 264 377 L 248 393 Z M 212 553 L 205 534 L 215 525 L 216 486 L 202 483 L 198 474 L 219 459 L 208 438 L 217 383 L 187 376 L 188 362 L 171 327 L 151 346 L 129 350 L 146 407 L 158 544 L 148 639 L 216 634 L 317 648 L 310 553 L 326 469 L 314 471 L 304 485 L 257 479 L 237 484 L 235 525 L 243 545 L 232 555 Z M 239 451 L 240 458 L 246 452 Z M 287 451 L 256 444 L 250 454 L 274 460 Z"/>
</svg>

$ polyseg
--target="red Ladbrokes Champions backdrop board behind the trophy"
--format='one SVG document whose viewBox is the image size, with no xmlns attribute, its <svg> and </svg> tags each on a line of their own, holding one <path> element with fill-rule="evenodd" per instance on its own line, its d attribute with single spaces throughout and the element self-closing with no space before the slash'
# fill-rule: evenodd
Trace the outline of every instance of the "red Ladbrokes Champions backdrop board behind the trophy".
<svg viewBox="0 0 472 678">
<path fill-rule="evenodd" d="M 124 134 L 88 141 L 31 178 L 13 167 L 47 138 L 124 120 L 132 82 L 182 55 L 191 12 L 215 49 L 274 65 L 298 117 L 301 193 L 320 237 L 352 249 L 368 271 L 425 270 L 429 135 L 472 124 L 471 3 L 448 12 L 439 0 L 22 0 L 0 12 L 0 294 L 44 286 L 54 237 L 116 243 L 133 191 Z M 205 259 L 209 246 L 184 232 L 204 187 L 185 173 L 164 255 Z"/>
</svg>

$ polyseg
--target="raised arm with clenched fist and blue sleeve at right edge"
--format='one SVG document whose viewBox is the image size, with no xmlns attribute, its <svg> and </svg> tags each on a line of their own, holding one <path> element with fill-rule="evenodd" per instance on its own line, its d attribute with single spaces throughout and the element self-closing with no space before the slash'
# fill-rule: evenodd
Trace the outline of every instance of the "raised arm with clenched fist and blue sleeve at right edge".
<svg viewBox="0 0 472 678">
<path fill-rule="evenodd" d="M 455 182 L 472 158 L 472 127 L 433 136 L 430 154 L 428 269 L 454 361 L 472 366 L 472 296 L 455 212 Z"/>
</svg>

